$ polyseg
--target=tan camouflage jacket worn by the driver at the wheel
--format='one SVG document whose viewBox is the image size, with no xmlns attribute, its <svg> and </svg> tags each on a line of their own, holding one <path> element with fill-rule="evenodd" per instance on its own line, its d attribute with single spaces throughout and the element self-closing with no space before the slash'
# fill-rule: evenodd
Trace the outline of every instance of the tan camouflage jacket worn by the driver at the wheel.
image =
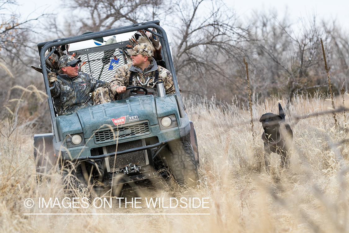
<svg viewBox="0 0 349 233">
<path fill-rule="evenodd" d="M 114 78 L 109 83 L 109 91 L 114 96 L 116 94 L 116 88 L 120 86 L 142 86 L 152 87 L 154 85 L 155 71 L 158 70 L 159 77 L 164 82 L 164 88 L 166 94 L 175 93 L 172 74 L 169 70 L 166 70 L 162 66 L 158 66 L 153 58 L 152 64 L 150 64 L 145 71 L 133 66 L 131 63 L 120 66 L 114 75 Z M 133 74 L 132 85 L 128 85 L 128 81 L 131 77 L 131 71 Z"/>
</svg>

